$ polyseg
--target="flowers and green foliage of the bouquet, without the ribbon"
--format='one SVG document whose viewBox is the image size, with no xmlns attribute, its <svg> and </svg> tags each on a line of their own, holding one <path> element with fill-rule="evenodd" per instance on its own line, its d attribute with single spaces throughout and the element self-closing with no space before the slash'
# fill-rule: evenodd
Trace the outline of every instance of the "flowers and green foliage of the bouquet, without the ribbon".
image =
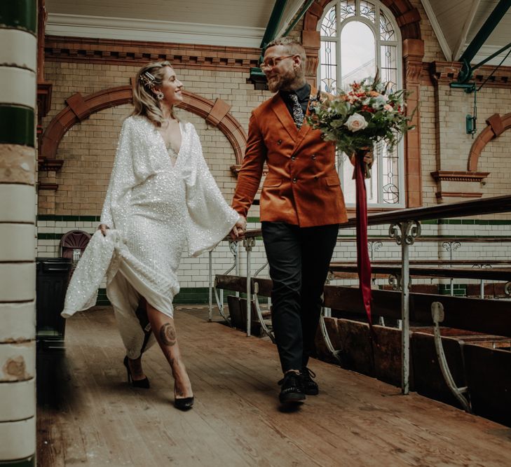
<svg viewBox="0 0 511 467">
<path fill-rule="evenodd" d="M 334 141 L 348 156 L 372 148 L 379 141 L 384 141 L 391 150 L 414 127 L 409 125 L 413 113 L 405 115 L 409 92 L 388 94 L 387 88 L 376 74 L 374 79 L 352 83 L 348 92 L 340 91 L 336 96 L 318 93 L 311 102 L 308 124 L 321 130 L 325 139 Z M 369 177 L 366 167 L 365 178 Z"/>
</svg>

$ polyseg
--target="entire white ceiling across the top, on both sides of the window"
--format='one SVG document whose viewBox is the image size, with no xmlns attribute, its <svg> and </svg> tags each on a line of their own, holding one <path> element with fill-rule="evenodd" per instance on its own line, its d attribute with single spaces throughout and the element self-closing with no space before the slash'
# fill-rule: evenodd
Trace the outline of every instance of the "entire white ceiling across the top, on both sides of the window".
<svg viewBox="0 0 511 467">
<path fill-rule="evenodd" d="M 445 60 L 458 60 L 499 0 L 421 0 Z M 509 0 L 511 1 L 511 0 Z M 304 0 L 288 0 L 282 33 Z M 256 47 L 275 0 L 46 0 L 46 34 Z M 472 60 L 511 42 L 511 8 Z M 499 64 L 507 50 L 489 64 Z M 504 62 L 511 66 L 511 55 Z"/>
</svg>

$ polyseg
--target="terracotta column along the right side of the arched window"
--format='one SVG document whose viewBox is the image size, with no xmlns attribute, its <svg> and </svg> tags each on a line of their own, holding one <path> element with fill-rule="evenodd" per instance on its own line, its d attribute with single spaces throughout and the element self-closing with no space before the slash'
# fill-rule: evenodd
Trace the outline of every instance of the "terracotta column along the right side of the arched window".
<svg viewBox="0 0 511 467">
<path fill-rule="evenodd" d="M 421 71 L 424 57 L 424 41 L 421 39 L 404 39 L 403 64 L 404 88 L 411 92 L 408 98 L 407 112 L 416 109 L 414 119 L 416 125 L 404 137 L 404 184 L 407 195 L 407 207 L 422 206 L 421 176 L 421 118 L 418 100 L 421 95 Z"/>
</svg>

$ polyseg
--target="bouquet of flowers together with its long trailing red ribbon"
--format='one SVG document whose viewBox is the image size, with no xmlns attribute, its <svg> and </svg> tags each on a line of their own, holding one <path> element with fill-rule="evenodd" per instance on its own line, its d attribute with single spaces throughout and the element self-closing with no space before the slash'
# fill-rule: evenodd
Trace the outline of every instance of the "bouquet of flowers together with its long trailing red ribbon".
<svg viewBox="0 0 511 467">
<path fill-rule="evenodd" d="M 353 157 L 355 165 L 357 266 L 362 302 L 371 335 L 371 262 L 367 249 L 367 194 L 364 178 L 371 176 L 369 163 L 363 158 L 379 141 L 393 148 L 402 135 L 411 130 L 412 116 L 405 114 L 407 91 L 387 92 L 378 78 L 365 78 L 350 85 L 348 92 L 332 96 L 318 94 L 311 102 L 307 123 L 321 130 L 323 137 L 334 141 L 336 148 Z M 376 335 L 374 335 L 376 336 Z M 376 337 L 375 337 L 376 338 Z"/>
</svg>

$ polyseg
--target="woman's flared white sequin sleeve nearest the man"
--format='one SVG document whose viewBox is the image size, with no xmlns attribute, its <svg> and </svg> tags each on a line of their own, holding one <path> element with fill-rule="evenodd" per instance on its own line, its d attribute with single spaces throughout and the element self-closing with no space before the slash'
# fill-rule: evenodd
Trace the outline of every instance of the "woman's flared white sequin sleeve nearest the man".
<svg viewBox="0 0 511 467">
<path fill-rule="evenodd" d="M 186 237 L 191 256 L 214 248 L 233 228 L 239 214 L 229 207 L 208 169 L 198 134 L 189 123 L 190 148 L 184 168 L 186 185 Z"/>
</svg>

